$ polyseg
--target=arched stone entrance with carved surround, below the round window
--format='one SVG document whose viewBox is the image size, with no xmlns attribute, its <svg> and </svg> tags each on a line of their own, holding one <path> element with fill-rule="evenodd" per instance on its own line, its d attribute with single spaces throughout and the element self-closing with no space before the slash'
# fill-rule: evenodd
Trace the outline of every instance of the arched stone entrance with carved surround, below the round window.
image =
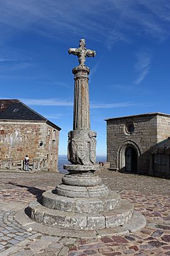
<svg viewBox="0 0 170 256">
<path fill-rule="evenodd" d="M 127 150 L 129 150 L 128 154 L 131 151 L 131 157 L 129 164 L 129 168 L 127 166 Z M 117 168 L 121 172 L 127 172 L 128 170 L 131 172 L 138 172 L 138 159 L 139 155 L 143 154 L 143 150 L 141 146 L 135 142 L 134 140 L 125 140 L 118 149 L 118 161 L 117 161 Z"/>
</svg>

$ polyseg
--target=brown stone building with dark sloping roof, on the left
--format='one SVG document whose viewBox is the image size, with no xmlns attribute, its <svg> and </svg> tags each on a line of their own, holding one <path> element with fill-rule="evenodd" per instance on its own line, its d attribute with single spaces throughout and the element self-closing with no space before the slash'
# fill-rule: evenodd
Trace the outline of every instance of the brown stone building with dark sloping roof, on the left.
<svg viewBox="0 0 170 256">
<path fill-rule="evenodd" d="M 57 171 L 59 131 L 17 99 L 0 100 L 0 168 L 22 169 L 29 155 L 32 170 Z"/>
</svg>

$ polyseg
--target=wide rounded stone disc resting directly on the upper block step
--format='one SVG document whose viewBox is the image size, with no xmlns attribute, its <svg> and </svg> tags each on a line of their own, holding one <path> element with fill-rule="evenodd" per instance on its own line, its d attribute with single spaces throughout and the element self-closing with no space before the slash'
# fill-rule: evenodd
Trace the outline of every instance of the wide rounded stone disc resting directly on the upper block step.
<svg viewBox="0 0 170 256">
<path fill-rule="evenodd" d="M 78 187 L 73 185 L 59 184 L 56 187 L 58 195 L 63 195 L 64 197 L 107 197 L 109 190 L 104 184 L 96 185 L 92 187 Z"/>
</svg>

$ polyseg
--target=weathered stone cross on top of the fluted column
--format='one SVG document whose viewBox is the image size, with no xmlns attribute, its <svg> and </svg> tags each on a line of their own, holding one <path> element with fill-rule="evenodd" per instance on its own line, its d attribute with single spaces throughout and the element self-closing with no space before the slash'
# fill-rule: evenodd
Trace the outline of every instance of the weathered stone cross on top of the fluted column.
<svg viewBox="0 0 170 256">
<path fill-rule="evenodd" d="M 79 48 L 70 48 L 68 50 L 69 54 L 77 55 L 80 66 L 85 66 L 86 57 L 95 57 L 96 52 L 86 49 L 85 39 L 80 39 Z"/>
</svg>

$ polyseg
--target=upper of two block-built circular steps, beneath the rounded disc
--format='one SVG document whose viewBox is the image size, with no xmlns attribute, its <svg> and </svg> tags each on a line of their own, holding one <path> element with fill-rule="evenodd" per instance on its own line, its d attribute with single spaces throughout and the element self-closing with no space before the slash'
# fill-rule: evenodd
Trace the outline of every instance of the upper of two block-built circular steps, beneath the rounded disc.
<svg viewBox="0 0 170 256">
<path fill-rule="evenodd" d="M 56 194 L 56 190 L 48 190 L 42 194 L 42 205 L 50 209 L 64 212 L 95 213 L 105 210 L 118 209 L 120 195 L 110 191 L 108 197 L 98 198 L 71 198 Z"/>
</svg>

